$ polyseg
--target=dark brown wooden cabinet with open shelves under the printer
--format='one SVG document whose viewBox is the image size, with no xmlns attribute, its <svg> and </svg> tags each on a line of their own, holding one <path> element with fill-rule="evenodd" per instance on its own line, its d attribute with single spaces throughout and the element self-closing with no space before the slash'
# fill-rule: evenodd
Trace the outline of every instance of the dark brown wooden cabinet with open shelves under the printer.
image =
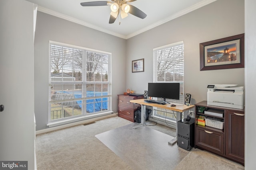
<svg viewBox="0 0 256 170">
<path fill-rule="evenodd" d="M 223 117 L 208 115 L 205 108 L 224 112 Z M 198 125 L 199 116 L 222 119 L 223 129 Z M 207 150 L 244 165 L 244 109 L 207 105 L 207 101 L 195 104 L 195 148 Z"/>
</svg>

